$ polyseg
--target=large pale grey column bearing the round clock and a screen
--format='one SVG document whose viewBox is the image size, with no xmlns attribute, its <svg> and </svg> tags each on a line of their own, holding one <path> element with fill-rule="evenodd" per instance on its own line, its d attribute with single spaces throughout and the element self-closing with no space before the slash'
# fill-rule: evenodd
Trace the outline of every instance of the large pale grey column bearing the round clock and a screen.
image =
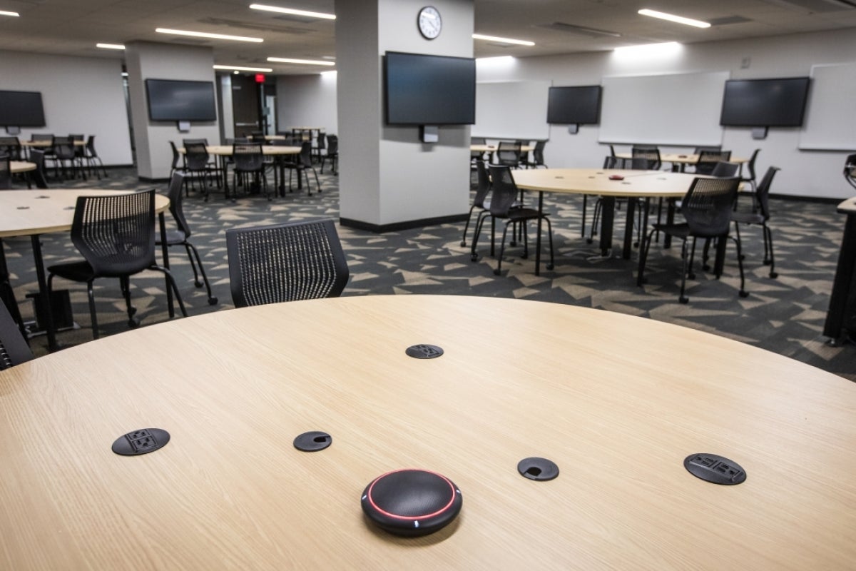
<svg viewBox="0 0 856 571">
<path fill-rule="evenodd" d="M 422 143 L 419 127 L 383 116 L 383 54 L 404 51 L 473 57 L 472 0 L 436 0 L 437 39 L 417 27 L 425 0 L 336 0 L 339 190 L 342 223 L 376 231 L 460 217 L 469 207 L 469 126 L 440 127 Z"/>
</svg>

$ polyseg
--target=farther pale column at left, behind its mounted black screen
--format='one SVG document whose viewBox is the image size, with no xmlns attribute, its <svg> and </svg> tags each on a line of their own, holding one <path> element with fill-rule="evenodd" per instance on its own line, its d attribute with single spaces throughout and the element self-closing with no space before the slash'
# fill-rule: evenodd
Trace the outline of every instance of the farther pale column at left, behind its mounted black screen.
<svg viewBox="0 0 856 571">
<path fill-rule="evenodd" d="M 182 139 L 207 139 L 212 144 L 220 142 L 220 128 L 216 121 L 192 122 L 187 133 L 179 132 L 175 122 L 150 121 L 146 99 L 147 79 L 213 82 L 214 53 L 211 48 L 128 42 L 125 45 L 125 62 L 137 170 L 141 179 L 156 180 L 169 176 L 172 164 L 170 140 L 177 146 L 181 146 Z"/>
</svg>

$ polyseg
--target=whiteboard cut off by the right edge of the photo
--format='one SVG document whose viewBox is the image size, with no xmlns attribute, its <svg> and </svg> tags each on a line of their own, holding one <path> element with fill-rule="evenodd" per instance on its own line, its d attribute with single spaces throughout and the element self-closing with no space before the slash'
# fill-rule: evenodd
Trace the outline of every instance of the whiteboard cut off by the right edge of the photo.
<svg viewBox="0 0 856 571">
<path fill-rule="evenodd" d="M 800 149 L 856 150 L 856 62 L 811 66 Z"/>
</svg>

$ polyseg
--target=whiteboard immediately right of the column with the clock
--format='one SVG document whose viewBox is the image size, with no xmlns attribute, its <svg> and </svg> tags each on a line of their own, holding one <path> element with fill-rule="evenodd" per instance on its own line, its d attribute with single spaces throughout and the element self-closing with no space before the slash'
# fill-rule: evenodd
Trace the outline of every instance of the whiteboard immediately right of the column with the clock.
<svg viewBox="0 0 856 571">
<path fill-rule="evenodd" d="M 476 84 L 473 137 L 547 140 L 550 81 L 481 81 Z"/>
</svg>

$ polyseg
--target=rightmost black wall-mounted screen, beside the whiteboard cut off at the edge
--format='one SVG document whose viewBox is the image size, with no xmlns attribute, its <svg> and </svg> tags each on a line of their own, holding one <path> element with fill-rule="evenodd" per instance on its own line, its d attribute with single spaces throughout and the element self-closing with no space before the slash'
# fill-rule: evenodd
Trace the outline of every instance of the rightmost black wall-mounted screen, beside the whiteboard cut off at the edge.
<svg viewBox="0 0 856 571">
<path fill-rule="evenodd" d="M 724 127 L 800 127 L 808 77 L 728 80 L 719 124 Z"/>
</svg>

